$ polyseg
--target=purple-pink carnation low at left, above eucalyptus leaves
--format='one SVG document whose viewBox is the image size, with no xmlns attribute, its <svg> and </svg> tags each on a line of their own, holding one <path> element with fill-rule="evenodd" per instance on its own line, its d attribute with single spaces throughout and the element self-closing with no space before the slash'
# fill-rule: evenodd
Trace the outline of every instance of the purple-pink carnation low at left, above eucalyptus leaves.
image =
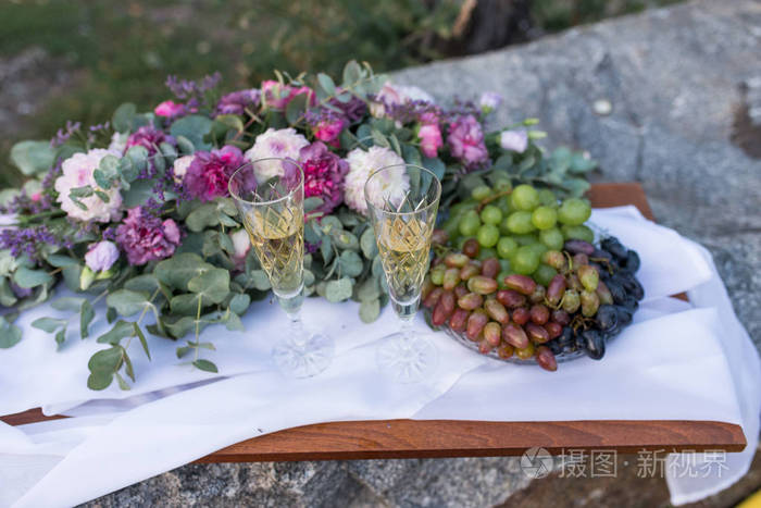
<svg viewBox="0 0 761 508">
<path fill-rule="evenodd" d="M 172 219 L 162 222 L 140 207 L 127 210 L 127 218 L 116 228 L 116 243 L 134 267 L 169 258 L 179 246 L 179 236 Z"/>
</svg>

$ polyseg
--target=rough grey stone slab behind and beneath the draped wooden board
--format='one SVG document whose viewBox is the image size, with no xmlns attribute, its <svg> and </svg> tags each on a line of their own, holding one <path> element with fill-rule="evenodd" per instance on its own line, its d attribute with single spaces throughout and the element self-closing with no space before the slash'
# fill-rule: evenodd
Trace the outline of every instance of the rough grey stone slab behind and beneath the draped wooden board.
<svg viewBox="0 0 761 508">
<path fill-rule="evenodd" d="M 441 100 L 498 90 L 506 102 L 495 127 L 536 116 L 548 147 L 589 150 L 600 161 L 599 179 L 640 182 L 659 222 L 711 249 L 740 320 L 761 345 L 761 160 L 729 143 L 733 119 L 744 111 L 741 86 L 758 75 L 761 3 L 734 0 L 649 11 L 394 78 Z M 598 100 L 610 101 L 609 115 L 595 113 Z M 663 480 L 621 471 L 616 480 L 554 474 L 529 484 L 511 458 L 191 464 L 91 505 L 668 504 Z M 758 460 L 753 471 L 706 506 L 735 504 L 758 488 Z"/>
</svg>

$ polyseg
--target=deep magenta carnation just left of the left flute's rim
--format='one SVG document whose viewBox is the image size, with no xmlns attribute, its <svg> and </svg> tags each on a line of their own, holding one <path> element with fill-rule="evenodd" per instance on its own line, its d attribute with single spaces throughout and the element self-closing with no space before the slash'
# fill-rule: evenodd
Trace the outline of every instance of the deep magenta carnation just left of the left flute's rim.
<svg viewBox="0 0 761 508">
<path fill-rule="evenodd" d="M 244 154 L 233 146 L 220 150 L 197 151 L 185 173 L 184 184 L 190 196 L 210 201 L 228 196 L 227 184 L 235 170 L 244 165 Z"/>
</svg>

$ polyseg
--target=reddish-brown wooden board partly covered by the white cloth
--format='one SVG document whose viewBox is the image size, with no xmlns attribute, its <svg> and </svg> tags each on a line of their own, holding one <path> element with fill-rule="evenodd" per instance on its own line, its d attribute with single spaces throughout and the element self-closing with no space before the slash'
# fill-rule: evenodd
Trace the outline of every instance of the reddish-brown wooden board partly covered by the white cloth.
<svg viewBox="0 0 761 508">
<path fill-rule="evenodd" d="M 639 184 L 596 184 L 589 198 L 598 208 L 636 206 L 653 219 Z M 62 417 L 39 409 L 0 417 L 11 425 Z M 280 460 L 489 457 L 521 455 L 539 446 L 562 450 L 740 451 L 739 425 L 711 421 L 479 422 L 453 420 L 378 420 L 319 423 L 248 439 L 199 459 L 199 462 Z"/>
</svg>

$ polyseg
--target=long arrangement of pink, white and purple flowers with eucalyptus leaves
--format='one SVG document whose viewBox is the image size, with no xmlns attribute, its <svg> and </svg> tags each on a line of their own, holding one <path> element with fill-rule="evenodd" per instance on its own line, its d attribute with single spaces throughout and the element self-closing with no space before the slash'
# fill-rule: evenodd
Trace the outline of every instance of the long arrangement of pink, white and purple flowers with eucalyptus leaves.
<svg viewBox="0 0 761 508">
<path fill-rule="evenodd" d="M 544 137 L 534 120 L 485 133 L 500 102 L 495 94 L 444 107 L 353 61 L 340 85 L 325 74 L 276 77 L 222 96 L 219 75 L 170 77 L 174 98 L 152 112 L 126 103 L 102 125 L 70 122 L 50 143 L 16 144 L 12 162 L 29 179 L 0 193 L 0 348 L 22 339 L 18 312 L 50 298 L 63 280 L 75 296 L 51 305 L 72 318 L 33 326 L 59 345 L 74 334 L 88 338 L 104 300 L 112 327 L 96 337 L 104 348 L 88 363 L 90 388 L 114 377 L 129 388 L 132 337 L 149 358 L 152 336 L 184 339 L 177 357 L 216 372 L 202 358 L 214 346 L 200 340 L 201 331 L 242 330 L 240 317 L 270 289 L 228 195 L 230 175 L 247 160 L 301 164 L 307 295 L 360 301 L 365 322 L 388 298 L 365 219 L 363 186 L 374 170 L 402 161 L 433 170 L 444 185 L 442 210 L 495 178 L 563 196 L 588 188 L 584 173 L 595 163 L 567 149 L 547 156 L 534 143 Z"/>
</svg>

